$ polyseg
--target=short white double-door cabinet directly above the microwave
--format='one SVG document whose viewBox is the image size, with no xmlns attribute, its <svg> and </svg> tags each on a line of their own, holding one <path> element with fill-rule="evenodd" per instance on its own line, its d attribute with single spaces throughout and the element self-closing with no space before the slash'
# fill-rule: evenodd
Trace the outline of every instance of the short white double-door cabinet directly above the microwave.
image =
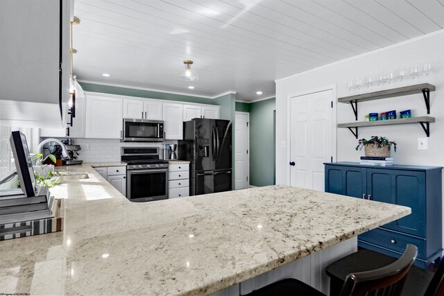
<svg viewBox="0 0 444 296">
<path fill-rule="evenodd" d="M 162 120 L 162 101 L 149 98 L 123 98 L 123 118 Z"/>
</svg>

